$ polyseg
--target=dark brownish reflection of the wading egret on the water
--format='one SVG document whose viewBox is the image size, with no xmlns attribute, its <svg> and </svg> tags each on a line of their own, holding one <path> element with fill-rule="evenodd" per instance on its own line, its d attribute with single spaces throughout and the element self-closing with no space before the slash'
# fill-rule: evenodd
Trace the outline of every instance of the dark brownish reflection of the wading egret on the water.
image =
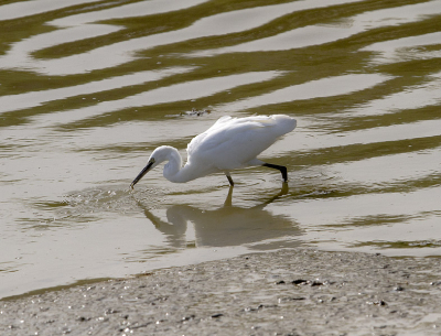
<svg viewBox="0 0 441 336">
<path fill-rule="evenodd" d="M 190 220 L 194 226 L 196 247 L 226 247 L 261 242 L 260 247 L 254 246 L 254 248 L 263 249 L 263 247 L 271 248 L 271 240 L 280 243 L 280 240 L 292 240 L 292 236 L 301 235 L 301 230 L 290 217 L 273 215 L 265 209 L 267 205 L 287 193 L 288 185 L 283 184 L 282 189 L 276 196 L 254 207 L 244 208 L 233 205 L 233 187 L 229 187 L 223 207 L 215 210 L 203 210 L 190 205 L 173 205 L 166 209 L 166 221 L 153 215 L 142 202 L 137 202 L 146 217 L 166 237 L 171 247 L 186 246 L 185 232 Z M 297 241 L 294 243 L 298 245 Z"/>
</svg>

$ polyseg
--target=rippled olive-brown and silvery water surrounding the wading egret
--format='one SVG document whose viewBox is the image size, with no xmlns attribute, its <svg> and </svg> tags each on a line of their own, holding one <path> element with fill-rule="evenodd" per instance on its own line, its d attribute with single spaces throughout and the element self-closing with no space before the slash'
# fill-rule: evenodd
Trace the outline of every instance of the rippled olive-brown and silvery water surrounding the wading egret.
<svg viewBox="0 0 441 336">
<path fill-rule="evenodd" d="M 0 6 L 0 297 L 284 247 L 441 254 L 441 1 Z M 209 113 L 190 113 L 192 109 Z M 219 117 L 255 167 L 129 184 Z"/>
</svg>

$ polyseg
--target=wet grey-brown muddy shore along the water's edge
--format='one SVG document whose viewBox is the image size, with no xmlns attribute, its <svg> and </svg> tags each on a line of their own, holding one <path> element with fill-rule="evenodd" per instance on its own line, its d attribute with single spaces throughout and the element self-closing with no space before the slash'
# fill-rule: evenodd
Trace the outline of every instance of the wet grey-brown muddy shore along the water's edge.
<svg viewBox="0 0 441 336">
<path fill-rule="evenodd" d="M 256 253 L 0 301 L 1 335 L 439 335 L 441 262 Z"/>
</svg>

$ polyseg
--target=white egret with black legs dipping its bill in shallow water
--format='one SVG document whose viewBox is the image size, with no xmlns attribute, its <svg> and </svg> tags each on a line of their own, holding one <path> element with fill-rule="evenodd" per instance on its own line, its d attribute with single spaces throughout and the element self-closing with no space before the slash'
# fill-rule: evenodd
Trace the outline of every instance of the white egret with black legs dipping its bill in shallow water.
<svg viewBox="0 0 441 336">
<path fill-rule="evenodd" d="M 187 161 L 182 166 L 178 150 L 170 145 L 157 148 L 150 155 L 146 167 L 130 184 L 133 186 L 163 161 L 168 161 L 163 175 L 174 183 L 184 183 L 216 172 L 223 172 L 229 184 L 234 182 L 230 171 L 235 169 L 262 165 L 279 170 L 283 181 L 288 181 L 287 167 L 266 163 L 256 159 L 283 134 L 297 126 L 295 119 L 283 116 L 254 116 L 247 118 L 219 118 L 209 129 L 193 138 L 187 145 Z"/>
</svg>

